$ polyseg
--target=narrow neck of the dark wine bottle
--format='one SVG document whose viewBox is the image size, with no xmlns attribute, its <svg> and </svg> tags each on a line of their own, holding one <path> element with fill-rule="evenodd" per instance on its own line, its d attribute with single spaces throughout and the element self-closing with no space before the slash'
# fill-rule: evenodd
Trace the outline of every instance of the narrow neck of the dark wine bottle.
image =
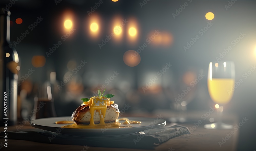
<svg viewBox="0 0 256 151">
<path fill-rule="evenodd" d="M 10 12 L 6 11 L 5 13 L 1 12 L 0 17 L 0 31 L 1 31 L 1 44 L 10 43 Z"/>
</svg>

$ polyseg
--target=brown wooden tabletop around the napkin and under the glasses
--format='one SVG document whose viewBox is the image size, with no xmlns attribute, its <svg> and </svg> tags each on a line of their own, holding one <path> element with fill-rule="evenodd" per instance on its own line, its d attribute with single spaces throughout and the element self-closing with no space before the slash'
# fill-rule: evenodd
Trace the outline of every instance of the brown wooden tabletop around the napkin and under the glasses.
<svg viewBox="0 0 256 151">
<path fill-rule="evenodd" d="M 159 146 L 156 146 L 154 150 L 164 150 L 164 151 L 183 151 L 183 150 L 198 150 L 198 151 L 229 151 L 229 150 L 236 150 L 237 147 L 237 140 L 238 140 L 238 134 L 239 130 L 235 131 L 235 133 L 223 144 L 219 145 L 218 142 L 222 141 L 222 138 L 225 138 L 227 134 L 231 132 L 231 130 L 208 130 L 204 128 L 204 124 L 209 123 L 209 120 L 202 120 L 201 116 L 203 112 L 199 113 L 190 113 L 190 116 L 193 117 L 199 117 L 197 120 L 195 118 L 194 122 L 187 122 L 182 123 L 181 125 L 187 126 L 190 130 L 193 130 L 191 134 L 184 134 L 179 137 L 175 137 L 173 139 L 170 139 Z M 162 116 L 167 117 L 168 115 L 172 115 L 170 113 L 161 113 Z M 155 114 L 157 115 L 157 114 Z M 130 115 L 129 115 L 130 116 Z M 232 125 L 238 124 L 238 120 L 236 119 L 236 116 L 229 115 L 227 116 L 229 119 L 228 123 Z M 196 124 L 198 127 L 195 128 L 196 121 L 202 120 L 203 123 Z M 208 122 L 207 122 L 208 121 Z M 169 125 L 170 123 L 167 123 Z M 172 123 L 173 124 L 173 123 Z M 194 126 L 194 127 L 193 127 Z M 16 126 L 9 126 L 8 131 L 16 131 Z M 194 129 L 193 129 L 194 128 Z M 22 130 L 37 130 L 30 125 L 24 125 L 22 127 Z M 0 127 L 0 131 L 3 131 L 3 127 Z M 21 130 L 19 130 L 21 131 Z M 226 137 L 227 138 L 227 137 Z M 0 144 L 3 142 L 4 139 L 0 139 Z M 0 145 L 0 147 L 2 147 Z M 23 140 L 10 140 L 8 139 L 8 149 L 6 147 L 2 147 L 1 150 L 20 150 L 20 149 L 26 149 L 26 150 L 72 150 L 72 151 L 80 151 L 80 150 L 86 150 L 84 146 L 79 145 L 58 145 L 58 144 L 46 144 L 46 143 L 38 143 L 38 142 L 32 142 L 32 141 L 23 141 Z M 129 151 L 129 150 L 143 150 L 143 149 L 128 149 L 128 148 L 103 148 L 103 147 L 92 147 L 89 146 L 88 150 L 111 150 L 111 151 Z"/>
</svg>

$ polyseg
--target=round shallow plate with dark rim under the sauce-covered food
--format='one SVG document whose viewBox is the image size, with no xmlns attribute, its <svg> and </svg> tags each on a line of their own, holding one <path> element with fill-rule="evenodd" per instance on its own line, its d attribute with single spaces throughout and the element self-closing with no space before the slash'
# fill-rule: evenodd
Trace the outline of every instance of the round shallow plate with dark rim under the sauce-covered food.
<svg viewBox="0 0 256 151">
<path fill-rule="evenodd" d="M 121 128 L 121 129 L 70 129 L 61 128 L 64 125 L 69 124 L 55 124 L 56 121 L 71 120 L 71 117 L 52 117 L 52 118 L 42 118 L 30 121 L 30 125 L 66 135 L 76 135 L 83 137 L 108 137 L 108 136 L 119 136 L 119 135 L 129 135 L 147 129 L 159 128 L 166 124 L 164 119 L 159 118 L 143 118 L 143 117 L 127 117 L 129 120 L 141 121 L 140 124 L 131 124 L 132 127 Z M 123 125 L 123 124 L 121 124 Z"/>
</svg>

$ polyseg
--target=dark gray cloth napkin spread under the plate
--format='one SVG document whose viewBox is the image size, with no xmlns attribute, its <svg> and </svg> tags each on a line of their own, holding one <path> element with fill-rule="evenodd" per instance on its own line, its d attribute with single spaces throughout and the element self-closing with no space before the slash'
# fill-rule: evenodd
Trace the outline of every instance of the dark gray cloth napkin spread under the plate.
<svg viewBox="0 0 256 151">
<path fill-rule="evenodd" d="M 46 130 L 7 133 L 8 139 L 27 140 L 50 144 L 153 149 L 156 145 L 159 145 L 168 139 L 183 134 L 190 134 L 190 131 L 187 127 L 182 125 L 173 125 L 171 127 L 164 126 L 161 128 L 149 129 L 147 131 L 141 131 L 131 135 L 111 137 L 70 136 Z M 0 135 L 4 136 L 4 133 L 1 132 Z M 53 138 L 52 136 L 56 137 Z"/>
</svg>

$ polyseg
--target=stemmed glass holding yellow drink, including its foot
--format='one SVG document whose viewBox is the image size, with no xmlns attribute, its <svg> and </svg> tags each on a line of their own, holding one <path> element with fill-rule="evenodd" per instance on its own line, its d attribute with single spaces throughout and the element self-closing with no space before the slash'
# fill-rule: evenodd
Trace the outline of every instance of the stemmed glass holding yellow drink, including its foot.
<svg viewBox="0 0 256 151">
<path fill-rule="evenodd" d="M 208 70 L 208 91 L 211 99 L 217 103 L 218 121 L 204 125 L 206 129 L 232 129 L 233 125 L 221 122 L 223 106 L 232 96 L 232 87 L 235 83 L 235 66 L 233 61 L 212 61 Z"/>
</svg>

